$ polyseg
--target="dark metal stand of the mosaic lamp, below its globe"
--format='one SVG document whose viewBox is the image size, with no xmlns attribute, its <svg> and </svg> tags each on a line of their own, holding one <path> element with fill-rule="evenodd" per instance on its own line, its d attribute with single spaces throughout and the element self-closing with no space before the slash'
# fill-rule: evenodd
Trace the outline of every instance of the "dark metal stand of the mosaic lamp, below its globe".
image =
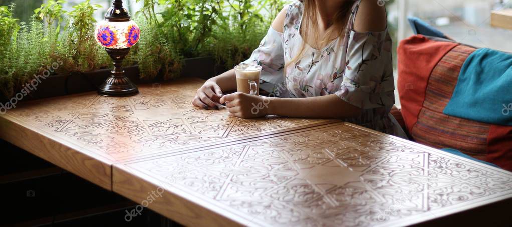
<svg viewBox="0 0 512 227">
<path fill-rule="evenodd" d="M 107 54 L 114 61 L 114 70 L 108 79 L 98 87 L 98 95 L 108 97 L 129 97 L 139 94 L 137 86 L 124 76 L 122 70 L 122 62 L 124 57 L 130 52 L 130 48 L 126 49 L 108 49 L 105 48 Z"/>
</svg>

